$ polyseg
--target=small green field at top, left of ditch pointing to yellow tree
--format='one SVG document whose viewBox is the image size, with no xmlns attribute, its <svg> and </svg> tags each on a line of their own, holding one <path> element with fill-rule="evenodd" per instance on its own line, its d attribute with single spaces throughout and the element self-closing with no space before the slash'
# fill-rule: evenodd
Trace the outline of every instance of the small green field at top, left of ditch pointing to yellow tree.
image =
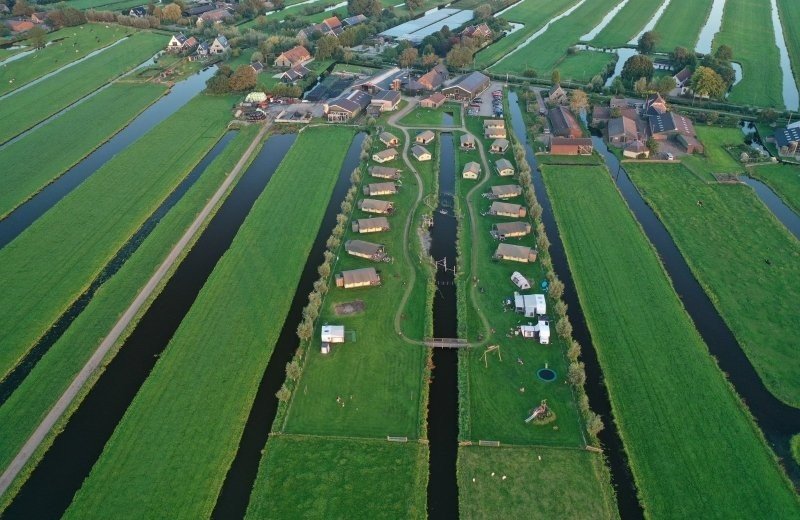
<svg viewBox="0 0 800 520">
<path fill-rule="evenodd" d="M 672 52 L 678 46 L 693 50 L 712 4 L 713 0 L 671 0 L 653 28 L 661 38 L 656 48 L 662 52 Z"/>
</svg>

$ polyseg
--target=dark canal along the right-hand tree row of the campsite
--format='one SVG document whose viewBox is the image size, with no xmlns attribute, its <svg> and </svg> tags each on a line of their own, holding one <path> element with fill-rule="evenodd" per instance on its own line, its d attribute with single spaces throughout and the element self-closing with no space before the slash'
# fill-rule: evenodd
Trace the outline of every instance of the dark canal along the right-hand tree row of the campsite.
<svg viewBox="0 0 800 520">
<path fill-rule="evenodd" d="M 586 365 L 586 394 L 589 396 L 589 403 L 592 410 L 603 417 L 605 428 L 598 435 L 603 445 L 603 452 L 606 456 L 608 466 L 611 470 L 611 483 L 617 499 L 617 508 L 622 518 L 643 518 L 644 513 L 637 498 L 636 484 L 633 480 L 628 456 L 622 445 L 622 438 L 617 430 L 616 423 L 612 420 L 611 400 L 608 396 L 608 389 L 603 382 L 603 372 L 600 362 L 597 359 L 597 352 L 594 349 L 589 328 L 581 311 L 581 304 L 578 300 L 578 293 L 572 281 L 572 273 L 567 263 L 567 255 L 561 236 L 558 234 L 553 208 L 547 195 L 547 190 L 542 180 L 542 173 L 536 162 L 536 155 L 528 142 L 528 133 L 525 121 L 522 118 L 522 111 L 517 102 L 516 92 L 509 94 L 509 109 L 511 111 L 511 125 L 520 143 L 525 145 L 525 156 L 533 172 L 533 184 L 536 190 L 536 198 L 541 204 L 542 221 L 544 222 L 547 236 L 550 239 L 550 256 L 553 259 L 558 277 L 564 282 L 564 301 L 568 306 L 568 315 L 573 326 L 573 336 L 583 346 L 581 359 Z"/>
</svg>

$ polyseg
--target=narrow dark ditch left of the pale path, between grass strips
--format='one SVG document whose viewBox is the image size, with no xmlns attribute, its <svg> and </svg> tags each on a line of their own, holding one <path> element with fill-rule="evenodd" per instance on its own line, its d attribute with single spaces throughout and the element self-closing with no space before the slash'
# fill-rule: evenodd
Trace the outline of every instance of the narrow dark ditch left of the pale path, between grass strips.
<svg viewBox="0 0 800 520">
<path fill-rule="evenodd" d="M 122 266 L 133 256 L 139 246 L 150 236 L 150 233 L 155 229 L 161 219 L 177 204 L 181 198 L 189 191 L 189 188 L 194 186 L 194 183 L 200 178 L 206 170 L 211 161 L 213 161 L 222 150 L 230 143 L 236 136 L 235 131 L 226 133 L 220 141 L 214 145 L 205 157 L 192 169 L 180 184 L 169 194 L 169 196 L 156 208 L 156 210 L 144 221 L 144 223 L 136 230 L 136 232 L 128 239 L 116 254 L 103 266 L 103 269 L 95 276 L 94 280 L 89 284 L 88 289 L 83 292 L 78 298 L 65 310 L 61 316 L 53 323 L 53 325 L 39 338 L 39 341 L 31 348 L 25 357 L 14 367 L 14 369 L 0 381 L 0 406 L 8 401 L 9 397 L 19 388 L 28 374 L 31 373 L 33 368 L 47 354 L 50 348 L 64 335 L 64 332 L 72 325 L 78 316 L 89 306 L 94 298 L 94 295 L 108 281 L 112 276 L 117 274 Z"/>
</svg>

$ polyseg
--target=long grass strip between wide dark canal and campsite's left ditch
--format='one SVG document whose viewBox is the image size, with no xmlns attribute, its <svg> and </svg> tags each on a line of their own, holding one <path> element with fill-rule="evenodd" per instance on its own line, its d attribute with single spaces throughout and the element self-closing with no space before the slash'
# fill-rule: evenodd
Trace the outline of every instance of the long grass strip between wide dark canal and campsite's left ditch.
<svg viewBox="0 0 800 520">
<path fill-rule="evenodd" d="M 132 510 L 142 517 L 211 514 L 352 139 L 353 130 L 344 127 L 300 134 L 67 518 L 118 518 Z M 279 239 L 281 228 L 291 228 L 291 238 Z"/>
</svg>

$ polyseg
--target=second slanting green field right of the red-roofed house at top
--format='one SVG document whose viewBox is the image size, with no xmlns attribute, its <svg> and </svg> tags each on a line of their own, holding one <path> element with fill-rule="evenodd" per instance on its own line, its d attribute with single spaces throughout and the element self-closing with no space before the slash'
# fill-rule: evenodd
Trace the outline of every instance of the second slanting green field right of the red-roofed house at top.
<svg viewBox="0 0 800 520">
<path fill-rule="evenodd" d="M 526 69 L 534 69 L 540 76 L 549 75 L 551 70 L 559 68 L 567 49 L 600 23 L 613 7 L 605 0 L 586 0 L 572 14 L 552 24 L 539 38 L 492 65 L 491 71 L 521 74 Z"/>
</svg>

